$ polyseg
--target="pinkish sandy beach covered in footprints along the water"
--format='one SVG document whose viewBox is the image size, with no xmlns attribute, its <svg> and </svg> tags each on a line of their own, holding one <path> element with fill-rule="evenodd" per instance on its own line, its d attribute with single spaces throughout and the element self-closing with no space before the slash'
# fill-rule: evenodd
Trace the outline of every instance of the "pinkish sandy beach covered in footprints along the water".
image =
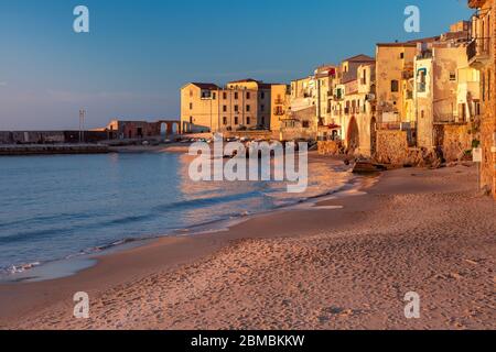
<svg viewBox="0 0 496 352">
<path fill-rule="evenodd" d="M 495 329 L 496 205 L 475 167 L 391 170 L 363 190 L 0 285 L 0 328 Z M 89 319 L 73 317 L 76 292 Z M 420 319 L 405 318 L 408 292 Z"/>
</svg>

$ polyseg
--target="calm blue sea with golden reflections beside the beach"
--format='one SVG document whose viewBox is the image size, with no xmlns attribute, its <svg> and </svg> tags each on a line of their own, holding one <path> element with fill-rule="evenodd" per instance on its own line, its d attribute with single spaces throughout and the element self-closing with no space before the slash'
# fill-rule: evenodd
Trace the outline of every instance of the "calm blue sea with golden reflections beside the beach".
<svg viewBox="0 0 496 352">
<path fill-rule="evenodd" d="M 192 161 L 181 153 L 0 157 L 0 278 L 126 243 L 219 230 L 353 179 L 342 162 L 311 160 L 306 190 L 289 194 L 284 182 L 194 182 Z"/>
</svg>

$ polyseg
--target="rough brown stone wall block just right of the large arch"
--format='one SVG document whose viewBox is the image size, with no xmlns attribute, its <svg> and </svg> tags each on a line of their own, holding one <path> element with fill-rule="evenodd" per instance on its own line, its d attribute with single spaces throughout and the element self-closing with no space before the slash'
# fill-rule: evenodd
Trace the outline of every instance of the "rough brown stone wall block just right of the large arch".
<svg viewBox="0 0 496 352">
<path fill-rule="evenodd" d="M 408 160 L 406 131 L 377 131 L 376 160 L 384 164 L 402 165 Z"/>
</svg>

